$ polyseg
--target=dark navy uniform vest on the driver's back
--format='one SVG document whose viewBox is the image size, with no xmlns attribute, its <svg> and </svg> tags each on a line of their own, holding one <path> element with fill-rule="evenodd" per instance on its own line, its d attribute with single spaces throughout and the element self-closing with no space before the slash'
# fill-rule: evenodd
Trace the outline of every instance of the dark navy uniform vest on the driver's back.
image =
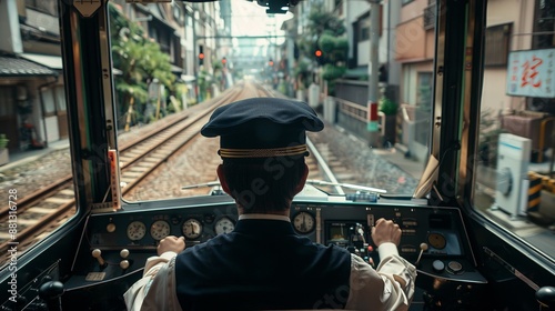
<svg viewBox="0 0 555 311">
<path fill-rule="evenodd" d="M 183 310 L 342 309 L 351 254 L 299 237 L 290 222 L 241 220 L 175 259 Z"/>
</svg>

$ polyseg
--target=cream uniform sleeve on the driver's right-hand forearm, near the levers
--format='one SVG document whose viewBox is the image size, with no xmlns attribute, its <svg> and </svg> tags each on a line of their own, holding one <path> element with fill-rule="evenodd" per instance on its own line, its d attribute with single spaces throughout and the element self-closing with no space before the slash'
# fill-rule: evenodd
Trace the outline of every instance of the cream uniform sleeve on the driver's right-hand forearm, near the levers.
<svg viewBox="0 0 555 311">
<path fill-rule="evenodd" d="M 351 289 L 345 309 L 408 310 L 416 268 L 398 255 L 394 243 L 383 243 L 377 251 L 380 265 L 375 270 L 359 255 L 351 257 Z"/>
</svg>

